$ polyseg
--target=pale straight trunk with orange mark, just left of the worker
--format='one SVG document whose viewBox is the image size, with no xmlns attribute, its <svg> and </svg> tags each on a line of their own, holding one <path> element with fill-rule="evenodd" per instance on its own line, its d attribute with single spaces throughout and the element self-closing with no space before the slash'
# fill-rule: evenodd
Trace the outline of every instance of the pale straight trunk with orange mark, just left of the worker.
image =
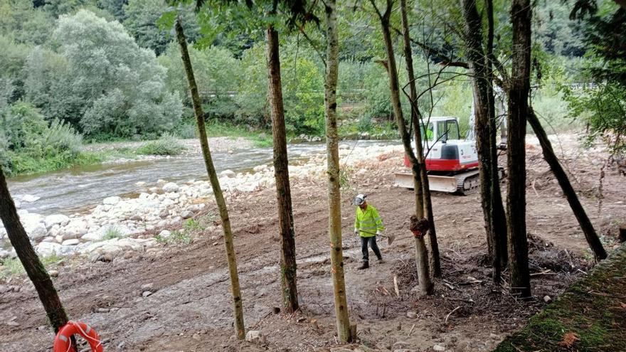
<svg viewBox="0 0 626 352">
<path fill-rule="evenodd" d="M 344 257 L 341 250 L 341 190 L 339 189 L 339 135 L 337 134 L 337 80 L 339 77 L 339 29 L 337 28 L 336 0 L 324 2 L 327 25 L 326 78 L 324 105 L 326 109 L 326 147 L 328 167 L 328 233 L 330 262 L 333 276 L 337 338 L 350 342 L 351 336 Z"/>
</svg>

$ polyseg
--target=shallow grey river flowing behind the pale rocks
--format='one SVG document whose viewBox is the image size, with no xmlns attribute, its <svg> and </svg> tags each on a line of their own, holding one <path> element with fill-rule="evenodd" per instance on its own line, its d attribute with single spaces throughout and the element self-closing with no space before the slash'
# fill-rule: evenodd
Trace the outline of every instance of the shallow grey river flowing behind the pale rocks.
<svg viewBox="0 0 626 352">
<path fill-rule="evenodd" d="M 394 141 L 348 141 L 341 144 L 354 146 L 398 144 Z M 290 164 L 322 153 L 326 144 L 292 144 L 288 146 Z M 272 148 L 235 149 L 233 154 L 213 152 L 213 163 L 219 172 L 250 171 L 253 167 L 272 163 Z M 103 198 L 136 193 L 135 183 L 144 181 L 153 186 L 159 179 L 176 183 L 190 179 L 206 179 L 206 169 L 198 156 L 177 156 L 163 159 L 129 161 L 80 166 L 48 174 L 19 176 L 9 179 L 9 190 L 14 198 L 29 194 L 40 197 L 37 201 L 21 202 L 21 209 L 32 213 L 69 215 L 100 204 Z"/>
</svg>

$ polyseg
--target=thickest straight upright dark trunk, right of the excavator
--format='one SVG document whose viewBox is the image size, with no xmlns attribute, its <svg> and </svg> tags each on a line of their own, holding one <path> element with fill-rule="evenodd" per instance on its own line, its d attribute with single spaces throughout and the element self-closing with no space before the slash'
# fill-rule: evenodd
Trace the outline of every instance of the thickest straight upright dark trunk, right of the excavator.
<svg viewBox="0 0 626 352">
<path fill-rule="evenodd" d="M 509 183 L 506 192 L 506 230 L 509 236 L 511 293 L 530 297 L 528 241 L 526 240 L 526 115 L 529 112 L 531 71 L 530 0 L 513 0 L 513 55 L 509 92 L 509 146 L 506 166 Z"/>
</svg>

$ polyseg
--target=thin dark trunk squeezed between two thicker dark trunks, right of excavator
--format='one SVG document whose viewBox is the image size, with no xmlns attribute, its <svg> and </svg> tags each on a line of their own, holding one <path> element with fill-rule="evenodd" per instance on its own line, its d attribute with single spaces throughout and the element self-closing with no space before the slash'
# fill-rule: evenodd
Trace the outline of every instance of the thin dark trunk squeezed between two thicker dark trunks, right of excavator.
<svg viewBox="0 0 626 352">
<path fill-rule="evenodd" d="M 508 254 L 506 252 L 506 213 L 502 204 L 500 192 L 500 176 L 498 167 L 498 146 L 496 145 L 496 99 L 494 95 L 494 4 L 492 0 L 486 0 L 487 8 L 487 87 L 489 89 L 489 151 L 491 154 L 492 188 L 491 208 L 493 211 L 493 229 L 496 246 L 494 247 L 494 276 L 495 282 L 500 280 L 501 272 L 506 267 Z"/>
</svg>

